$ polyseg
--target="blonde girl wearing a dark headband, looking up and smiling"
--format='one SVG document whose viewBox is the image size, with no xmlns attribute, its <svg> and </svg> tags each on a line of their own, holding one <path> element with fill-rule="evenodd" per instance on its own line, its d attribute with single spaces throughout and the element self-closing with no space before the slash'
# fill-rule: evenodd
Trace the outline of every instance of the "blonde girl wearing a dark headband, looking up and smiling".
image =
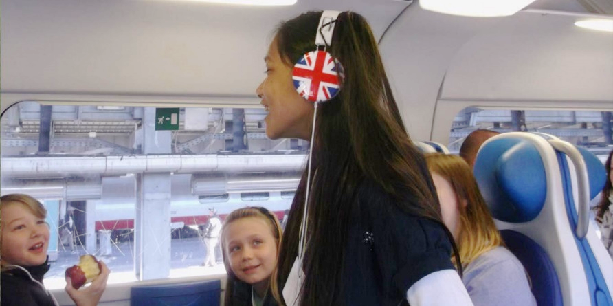
<svg viewBox="0 0 613 306">
<path fill-rule="evenodd" d="M 281 226 L 262 207 L 234 210 L 223 222 L 221 254 L 227 272 L 225 305 L 277 305 L 271 274 L 277 265 Z"/>
</svg>

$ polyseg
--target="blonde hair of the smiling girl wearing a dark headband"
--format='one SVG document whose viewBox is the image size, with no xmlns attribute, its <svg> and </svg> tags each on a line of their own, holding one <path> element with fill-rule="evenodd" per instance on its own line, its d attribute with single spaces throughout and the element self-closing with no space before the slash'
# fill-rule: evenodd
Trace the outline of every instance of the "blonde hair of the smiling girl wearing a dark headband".
<svg viewBox="0 0 613 306">
<path fill-rule="evenodd" d="M 273 237 L 277 243 L 277 257 L 279 252 L 279 247 L 281 244 L 282 237 L 282 229 L 281 224 L 279 223 L 278 218 L 272 212 L 267 210 L 266 208 L 259 206 L 245 207 L 239 208 L 230 212 L 230 215 L 227 215 L 225 220 L 223 221 L 223 226 L 221 226 L 221 255 L 223 256 L 223 265 L 225 266 L 225 272 L 227 272 L 227 283 L 225 285 L 225 306 L 234 306 L 241 305 L 241 301 L 234 300 L 234 286 L 236 282 L 239 281 L 234 272 L 232 272 L 232 267 L 230 267 L 230 259 L 227 254 L 227 243 L 226 243 L 226 234 L 227 227 L 230 226 L 230 223 L 240 220 L 243 218 L 254 217 L 265 220 L 269 226 L 270 230 L 273 234 Z M 273 270 L 271 276 L 269 277 L 269 288 L 270 291 L 273 292 L 273 297 L 276 300 L 280 300 L 280 296 L 277 296 L 276 292 L 278 292 L 278 283 L 276 281 L 277 268 Z"/>
</svg>

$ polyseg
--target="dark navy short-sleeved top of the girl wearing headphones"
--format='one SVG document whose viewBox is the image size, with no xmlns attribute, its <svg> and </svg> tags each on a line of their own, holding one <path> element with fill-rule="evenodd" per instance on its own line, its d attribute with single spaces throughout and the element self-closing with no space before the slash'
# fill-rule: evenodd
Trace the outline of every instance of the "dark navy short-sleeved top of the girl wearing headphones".
<svg viewBox="0 0 613 306">
<path fill-rule="evenodd" d="M 408 305 L 408 289 L 432 272 L 454 269 L 441 223 L 404 212 L 376 184 L 366 184 L 350 212 L 345 305 Z"/>
</svg>

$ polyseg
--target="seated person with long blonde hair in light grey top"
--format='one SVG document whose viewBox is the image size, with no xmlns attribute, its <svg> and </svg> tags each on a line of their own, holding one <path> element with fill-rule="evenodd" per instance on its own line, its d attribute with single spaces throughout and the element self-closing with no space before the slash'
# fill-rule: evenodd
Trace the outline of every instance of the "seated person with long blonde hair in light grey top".
<svg viewBox="0 0 613 306">
<path fill-rule="evenodd" d="M 536 305 L 524 267 L 504 248 L 468 164 L 456 155 L 438 153 L 426 155 L 426 162 L 443 222 L 458 244 L 462 282 L 473 304 Z"/>
</svg>

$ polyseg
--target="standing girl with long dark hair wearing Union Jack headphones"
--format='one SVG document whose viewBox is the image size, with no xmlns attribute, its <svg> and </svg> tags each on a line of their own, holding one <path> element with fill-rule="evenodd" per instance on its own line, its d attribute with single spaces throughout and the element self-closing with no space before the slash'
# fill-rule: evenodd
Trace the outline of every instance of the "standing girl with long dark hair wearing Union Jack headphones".
<svg viewBox="0 0 613 306">
<path fill-rule="evenodd" d="M 321 17 L 307 12 L 281 23 L 257 89 L 269 111 L 268 137 L 312 146 L 273 293 L 284 305 L 471 305 L 450 260 L 453 238 L 432 178 L 405 130 L 370 26 L 354 12 Z M 320 49 L 333 58 L 327 63 L 339 72 L 339 92 L 314 105 L 294 87 L 293 67 L 330 25 Z"/>
</svg>

